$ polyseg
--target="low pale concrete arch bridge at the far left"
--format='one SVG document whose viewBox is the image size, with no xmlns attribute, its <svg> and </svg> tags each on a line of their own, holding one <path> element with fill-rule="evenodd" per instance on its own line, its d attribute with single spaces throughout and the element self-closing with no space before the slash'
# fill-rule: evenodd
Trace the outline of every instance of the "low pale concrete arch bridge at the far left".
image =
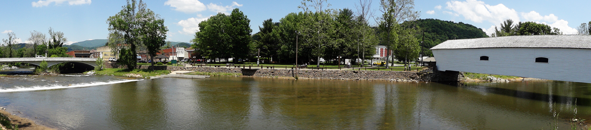
<svg viewBox="0 0 591 130">
<path fill-rule="evenodd" d="M 47 57 L 47 58 L 0 58 L 1 63 L 29 63 L 40 66 L 41 61 L 47 61 L 47 67 L 59 63 L 82 63 L 96 67 L 96 58 L 74 58 L 74 57 Z"/>
</svg>

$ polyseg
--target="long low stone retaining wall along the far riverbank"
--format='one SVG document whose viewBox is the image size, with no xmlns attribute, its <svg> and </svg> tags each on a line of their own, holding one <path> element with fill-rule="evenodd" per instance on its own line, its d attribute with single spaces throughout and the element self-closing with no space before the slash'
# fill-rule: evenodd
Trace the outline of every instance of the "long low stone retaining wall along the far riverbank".
<svg viewBox="0 0 591 130">
<path fill-rule="evenodd" d="M 118 67 L 115 64 L 105 64 L 107 67 Z M 114 65 L 114 66 L 113 66 Z M 138 69 L 152 69 L 151 66 L 138 66 Z M 355 80 L 394 80 L 394 81 L 459 81 L 462 73 L 432 71 L 376 71 L 376 70 L 293 70 L 293 69 L 242 69 L 226 67 L 184 67 L 184 66 L 154 66 L 155 70 L 170 71 L 200 71 L 209 73 L 242 73 L 244 76 L 259 77 L 304 77 L 310 79 L 355 79 Z"/>
</svg>

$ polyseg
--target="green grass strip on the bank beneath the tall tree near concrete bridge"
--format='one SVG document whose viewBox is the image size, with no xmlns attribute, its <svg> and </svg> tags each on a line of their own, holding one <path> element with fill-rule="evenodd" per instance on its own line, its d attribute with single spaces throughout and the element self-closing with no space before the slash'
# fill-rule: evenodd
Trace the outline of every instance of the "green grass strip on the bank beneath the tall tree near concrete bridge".
<svg viewBox="0 0 591 130">
<path fill-rule="evenodd" d="M 96 71 L 96 70 L 95 70 Z M 129 74 L 129 73 L 134 73 L 134 74 L 139 74 L 142 75 L 144 77 L 148 77 L 148 76 L 159 76 L 162 74 L 169 74 L 170 70 L 147 70 L 147 69 L 134 69 L 134 70 L 127 70 L 127 69 L 103 69 L 100 71 L 96 71 L 96 74 L 100 74 L 100 75 L 111 75 L 113 74 L 114 76 L 124 76 L 125 74 Z"/>
</svg>

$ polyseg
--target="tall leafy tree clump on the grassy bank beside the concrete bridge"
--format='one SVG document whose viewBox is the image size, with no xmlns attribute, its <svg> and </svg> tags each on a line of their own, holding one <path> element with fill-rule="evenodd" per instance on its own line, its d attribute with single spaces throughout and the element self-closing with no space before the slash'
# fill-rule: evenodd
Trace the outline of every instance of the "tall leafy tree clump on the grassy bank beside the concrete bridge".
<svg viewBox="0 0 591 130">
<path fill-rule="evenodd" d="M 109 46 L 113 53 L 119 52 L 119 63 L 131 70 L 137 65 L 138 48 L 145 49 L 154 58 L 158 48 L 164 45 L 168 29 L 164 26 L 164 19 L 141 0 L 128 0 L 122 8 L 107 19 Z"/>
</svg>

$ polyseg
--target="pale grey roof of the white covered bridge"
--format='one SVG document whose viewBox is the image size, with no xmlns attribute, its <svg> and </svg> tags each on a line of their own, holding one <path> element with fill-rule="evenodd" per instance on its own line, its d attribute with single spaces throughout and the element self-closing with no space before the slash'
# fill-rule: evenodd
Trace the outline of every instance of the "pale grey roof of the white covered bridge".
<svg viewBox="0 0 591 130">
<path fill-rule="evenodd" d="M 591 35 L 518 35 L 507 37 L 447 40 L 431 50 L 462 48 L 587 48 Z"/>
</svg>

